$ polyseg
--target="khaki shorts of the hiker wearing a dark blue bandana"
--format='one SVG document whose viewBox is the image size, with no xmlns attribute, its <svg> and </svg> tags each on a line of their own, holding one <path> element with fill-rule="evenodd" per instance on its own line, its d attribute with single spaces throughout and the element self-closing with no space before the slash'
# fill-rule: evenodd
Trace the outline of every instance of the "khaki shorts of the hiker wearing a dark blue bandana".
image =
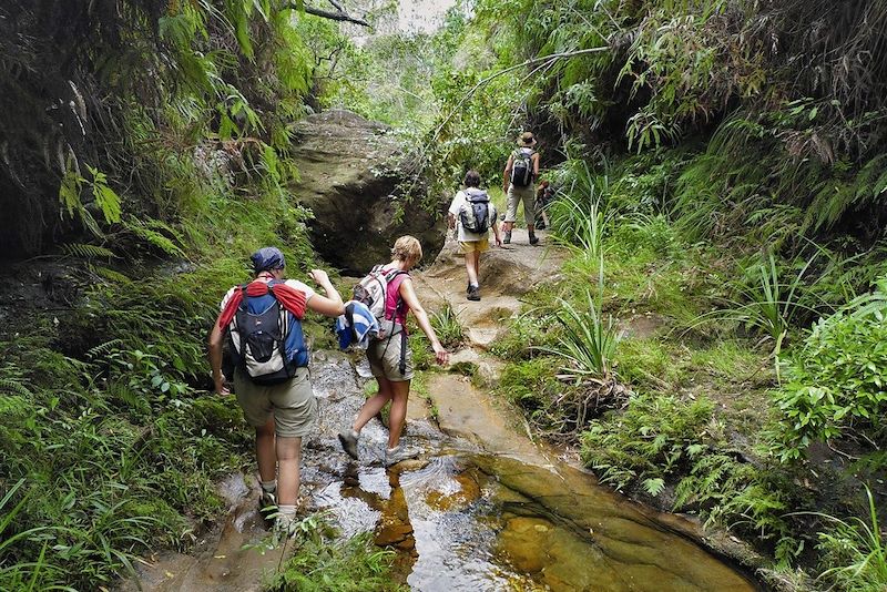
<svg viewBox="0 0 887 592">
<path fill-rule="evenodd" d="M 307 368 L 279 385 L 256 385 L 243 370 L 234 372 L 234 394 L 246 422 L 258 428 L 274 416 L 274 432 L 284 438 L 307 436 L 317 423 L 317 399 Z"/>
</svg>

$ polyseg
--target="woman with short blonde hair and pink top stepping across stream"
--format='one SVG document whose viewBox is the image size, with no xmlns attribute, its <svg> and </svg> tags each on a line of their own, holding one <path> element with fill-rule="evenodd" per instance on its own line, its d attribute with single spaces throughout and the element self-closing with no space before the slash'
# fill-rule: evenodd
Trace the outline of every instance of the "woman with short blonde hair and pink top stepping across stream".
<svg viewBox="0 0 887 592">
<path fill-rule="evenodd" d="M 338 435 L 341 448 L 355 460 L 358 459 L 357 442 L 360 430 L 388 401 L 391 401 L 391 410 L 388 416 L 389 432 L 385 466 L 389 467 L 419 453 L 418 450 L 400 443 L 412 379 L 412 356 L 406 333 L 407 314 L 410 310 L 416 316 L 419 328 L 431 341 L 437 363 L 447 364 L 449 359 L 449 353 L 440 345 L 409 276 L 409 271 L 421 258 L 422 247 L 419 241 L 412 236 L 401 236 L 391 248 L 391 262 L 374 267 L 373 272 L 355 287 L 355 299 L 366 300 L 365 304 L 370 309 L 375 308 L 374 304 L 376 306 L 380 304 L 379 298 L 384 302 L 384 306 L 379 307 L 381 317 L 378 319 L 378 335 L 370 339 L 367 348 L 367 361 L 379 390 L 364 404 L 351 428 Z"/>
</svg>

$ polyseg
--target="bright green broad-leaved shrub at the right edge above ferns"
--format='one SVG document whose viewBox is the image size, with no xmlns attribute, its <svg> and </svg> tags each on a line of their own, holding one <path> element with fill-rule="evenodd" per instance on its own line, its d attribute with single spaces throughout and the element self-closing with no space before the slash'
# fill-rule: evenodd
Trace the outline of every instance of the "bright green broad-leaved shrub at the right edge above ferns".
<svg viewBox="0 0 887 592">
<path fill-rule="evenodd" d="M 819 319 L 786 366 L 787 382 L 775 392 L 783 414 L 783 461 L 807 446 L 854 429 L 884 435 L 887 410 L 887 282 L 830 317 Z"/>
</svg>

